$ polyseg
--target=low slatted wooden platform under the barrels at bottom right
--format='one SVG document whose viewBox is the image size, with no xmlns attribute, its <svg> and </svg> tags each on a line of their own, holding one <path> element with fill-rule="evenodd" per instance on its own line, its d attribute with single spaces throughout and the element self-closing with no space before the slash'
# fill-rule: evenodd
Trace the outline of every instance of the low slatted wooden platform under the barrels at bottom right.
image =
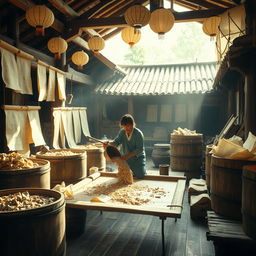
<svg viewBox="0 0 256 256">
<path fill-rule="evenodd" d="M 248 237 L 241 221 L 225 219 L 213 211 L 207 212 L 207 240 L 212 240 L 215 255 L 256 255 L 256 241 Z"/>
</svg>

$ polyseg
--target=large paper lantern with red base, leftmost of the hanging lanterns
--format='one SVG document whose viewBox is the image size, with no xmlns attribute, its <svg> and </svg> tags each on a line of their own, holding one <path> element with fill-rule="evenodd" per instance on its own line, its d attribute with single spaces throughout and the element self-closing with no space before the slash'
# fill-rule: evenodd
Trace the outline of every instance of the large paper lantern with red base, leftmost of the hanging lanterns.
<svg viewBox="0 0 256 256">
<path fill-rule="evenodd" d="M 36 35 L 44 36 L 44 29 L 54 22 L 53 12 L 44 5 L 34 5 L 26 11 L 26 20 L 36 28 Z"/>
</svg>

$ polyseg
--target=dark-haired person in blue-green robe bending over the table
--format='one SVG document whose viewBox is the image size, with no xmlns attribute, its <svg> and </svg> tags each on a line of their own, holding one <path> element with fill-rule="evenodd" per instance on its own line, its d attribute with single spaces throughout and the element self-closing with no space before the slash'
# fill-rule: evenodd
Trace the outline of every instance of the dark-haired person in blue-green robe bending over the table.
<svg viewBox="0 0 256 256">
<path fill-rule="evenodd" d="M 134 118 L 130 114 L 122 116 L 120 120 L 121 129 L 116 138 L 112 142 L 109 142 L 109 144 L 116 147 L 119 145 L 122 146 L 121 159 L 127 161 L 133 175 L 141 179 L 146 174 L 144 135 L 135 126 Z"/>
</svg>

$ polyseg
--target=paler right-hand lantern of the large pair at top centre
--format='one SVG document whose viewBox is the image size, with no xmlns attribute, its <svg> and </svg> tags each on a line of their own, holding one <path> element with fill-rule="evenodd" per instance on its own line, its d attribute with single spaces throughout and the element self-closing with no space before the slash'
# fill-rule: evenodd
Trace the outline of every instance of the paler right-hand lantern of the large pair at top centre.
<svg viewBox="0 0 256 256">
<path fill-rule="evenodd" d="M 173 27 L 175 18 L 170 10 L 159 8 L 151 13 L 149 26 L 159 36 L 163 36 Z"/>
</svg>

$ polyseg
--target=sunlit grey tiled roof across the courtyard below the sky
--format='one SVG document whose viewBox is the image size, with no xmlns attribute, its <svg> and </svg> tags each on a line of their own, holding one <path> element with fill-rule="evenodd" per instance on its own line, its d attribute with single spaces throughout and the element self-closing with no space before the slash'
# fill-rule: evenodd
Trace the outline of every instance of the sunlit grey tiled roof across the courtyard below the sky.
<svg viewBox="0 0 256 256">
<path fill-rule="evenodd" d="M 173 95 L 213 90 L 216 63 L 122 66 L 126 76 L 116 75 L 98 84 L 96 94 Z"/>
</svg>

